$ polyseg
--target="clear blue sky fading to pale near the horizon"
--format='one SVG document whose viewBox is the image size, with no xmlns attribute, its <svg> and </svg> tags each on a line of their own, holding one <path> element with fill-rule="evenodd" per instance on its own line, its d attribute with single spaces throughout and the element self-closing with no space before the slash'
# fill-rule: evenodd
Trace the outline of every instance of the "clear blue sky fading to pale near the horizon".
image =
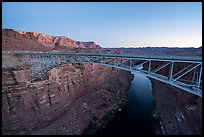
<svg viewBox="0 0 204 137">
<path fill-rule="evenodd" d="M 2 28 L 104 48 L 200 47 L 202 2 L 3 2 Z"/>
</svg>

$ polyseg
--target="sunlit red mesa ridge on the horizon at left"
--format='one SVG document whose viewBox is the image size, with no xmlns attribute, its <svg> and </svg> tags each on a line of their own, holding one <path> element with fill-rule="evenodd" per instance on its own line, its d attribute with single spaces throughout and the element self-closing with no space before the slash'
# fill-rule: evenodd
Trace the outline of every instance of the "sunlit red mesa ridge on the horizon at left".
<svg viewBox="0 0 204 137">
<path fill-rule="evenodd" d="M 52 51 L 67 49 L 98 49 L 95 42 L 75 41 L 65 36 L 50 36 L 39 32 L 2 30 L 2 50 Z"/>
</svg>

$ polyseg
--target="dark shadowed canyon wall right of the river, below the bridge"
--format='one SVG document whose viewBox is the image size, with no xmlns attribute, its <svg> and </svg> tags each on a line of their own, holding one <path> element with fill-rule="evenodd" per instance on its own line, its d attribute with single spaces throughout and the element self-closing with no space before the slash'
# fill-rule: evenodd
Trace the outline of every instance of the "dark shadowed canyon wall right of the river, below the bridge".
<svg viewBox="0 0 204 137">
<path fill-rule="evenodd" d="M 156 117 L 165 135 L 202 135 L 202 98 L 152 80 Z"/>
</svg>

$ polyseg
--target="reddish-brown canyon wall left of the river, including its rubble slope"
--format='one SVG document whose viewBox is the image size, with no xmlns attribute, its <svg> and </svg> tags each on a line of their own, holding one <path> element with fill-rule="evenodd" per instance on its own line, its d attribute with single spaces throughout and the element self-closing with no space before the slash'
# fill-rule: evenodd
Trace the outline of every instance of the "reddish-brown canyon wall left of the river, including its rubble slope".
<svg viewBox="0 0 204 137">
<path fill-rule="evenodd" d="M 3 134 L 82 134 L 90 122 L 103 126 L 102 118 L 127 101 L 132 80 L 97 65 L 62 65 L 34 83 L 26 65 L 2 74 Z"/>
</svg>

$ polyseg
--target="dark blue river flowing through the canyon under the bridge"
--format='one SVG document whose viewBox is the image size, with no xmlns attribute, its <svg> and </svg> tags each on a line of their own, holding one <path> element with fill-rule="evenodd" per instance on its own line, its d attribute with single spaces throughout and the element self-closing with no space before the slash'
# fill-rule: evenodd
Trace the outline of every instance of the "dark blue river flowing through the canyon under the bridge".
<svg viewBox="0 0 204 137">
<path fill-rule="evenodd" d="M 151 135 L 160 132 L 159 124 L 153 120 L 153 96 L 151 81 L 141 73 L 135 73 L 128 91 L 128 103 L 116 114 L 102 135 Z"/>
</svg>

